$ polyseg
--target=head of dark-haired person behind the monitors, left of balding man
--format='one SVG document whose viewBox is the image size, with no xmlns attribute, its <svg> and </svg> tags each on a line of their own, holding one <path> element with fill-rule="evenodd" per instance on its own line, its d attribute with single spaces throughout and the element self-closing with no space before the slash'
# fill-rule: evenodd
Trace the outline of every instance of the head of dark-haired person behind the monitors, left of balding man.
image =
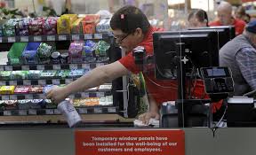
<svg viewBox="0 0 256 155">
<path fill-rule="evenodd" d="M 202 9 L 192 10 L 188 14 L 188 27 L 208 27 L 207 13 Z"/>
</svg>

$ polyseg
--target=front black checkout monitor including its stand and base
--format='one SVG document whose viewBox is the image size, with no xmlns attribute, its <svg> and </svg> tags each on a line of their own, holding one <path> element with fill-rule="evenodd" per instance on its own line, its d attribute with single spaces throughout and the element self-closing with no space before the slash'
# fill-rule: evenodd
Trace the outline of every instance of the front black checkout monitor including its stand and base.
<svg viewBox="0 0 256 155">
<path fill-rule="evenodd" d="M 202 113 L 202 109 L 206 107 L 202 104 L 203 100 L 187 98 L 185 79 L 190 68 L 219 66 L 218 32 L 215 30 L 156 32 L 153 34 L 153 45 L 156 79 L 177 78 L 178 81 L 176 100 L 178 126 L 193 127 L 200 124 L 204 126 L 205 122 L 209 125 L 210 121 L 204 121 L 205 118 L 209 118 L 208 115 Z M 195 108 L 197 114 L 194 113 Z M 172 127 L 168 125 L 168 117 L 163 116 L 162 122 L 165 124 L 163 127 Z"/>
</svg>

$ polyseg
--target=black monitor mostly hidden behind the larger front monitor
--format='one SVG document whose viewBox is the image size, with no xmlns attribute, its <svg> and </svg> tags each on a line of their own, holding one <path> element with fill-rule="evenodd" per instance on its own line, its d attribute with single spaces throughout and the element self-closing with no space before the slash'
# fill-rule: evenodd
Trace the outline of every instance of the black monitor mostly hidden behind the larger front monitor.
<svg viewBox="0 0 256 155">
<path fill-rule="evenodd" d="M 193 27 L 193 28 L 188 28 L 188 30 L 215 30 L 218 32 L 218 40 L 219 40 L 219 45 L 220 48 L 228 43 L 230 40 L 236 37 L 236 31 L 234 26 L 219 26 L 219 27 Z"/>
</svg>

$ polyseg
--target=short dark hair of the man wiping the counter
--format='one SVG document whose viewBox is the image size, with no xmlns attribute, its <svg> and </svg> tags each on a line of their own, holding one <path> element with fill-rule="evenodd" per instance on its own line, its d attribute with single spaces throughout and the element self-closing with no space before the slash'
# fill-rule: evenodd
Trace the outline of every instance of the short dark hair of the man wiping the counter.
<svg viewBox="0 0 256 155">
<path fill-rule="evenodd" d="M 133 33 L 136 28 L 140 27 L 143 34 L 146 34 L 150 23 L 146 15 L 139 8 L 126 5 L 115 12 L 110 20 L 110 27 L 113 30 L 120 29 L 127 34 Z"/>
</svg>

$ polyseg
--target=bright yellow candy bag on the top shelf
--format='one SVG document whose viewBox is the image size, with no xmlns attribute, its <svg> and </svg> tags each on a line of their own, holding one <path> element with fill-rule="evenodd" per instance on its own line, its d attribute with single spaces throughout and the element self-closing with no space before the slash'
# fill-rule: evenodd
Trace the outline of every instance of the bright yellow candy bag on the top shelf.
<svg viewBox="0 0 256 155">
<path fill-rule="evenodd" d="M 63 14 L 57 20 L 57 32 L 58 34 L 70 34 L 71 24 L 77 19 L 76 14 Z"/>
</svg>

